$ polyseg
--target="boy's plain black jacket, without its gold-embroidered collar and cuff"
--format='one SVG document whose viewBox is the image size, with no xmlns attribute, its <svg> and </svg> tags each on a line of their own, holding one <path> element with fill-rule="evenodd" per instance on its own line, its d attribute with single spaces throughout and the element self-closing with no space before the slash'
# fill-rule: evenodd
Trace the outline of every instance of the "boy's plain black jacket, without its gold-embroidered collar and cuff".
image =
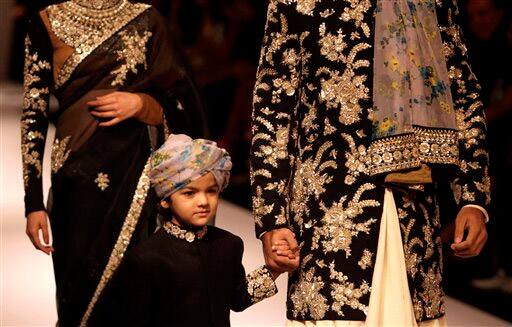
<svg viewBox="0 0 512 327">
<path fill-rule="evenodd" d="M 91 326 L 229 326 L 230 309 L 252 303 L 243 242 L 208 226 L 192 243 L 160 229 L 135 247 L 111 282 Z"/>
</svg>

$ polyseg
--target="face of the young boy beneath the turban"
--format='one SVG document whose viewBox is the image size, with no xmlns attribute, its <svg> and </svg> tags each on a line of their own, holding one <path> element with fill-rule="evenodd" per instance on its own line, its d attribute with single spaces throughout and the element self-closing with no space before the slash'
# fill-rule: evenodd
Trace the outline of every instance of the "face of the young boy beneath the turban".
<svg viewBox="0 0 512 327">
<path fill-rule="evenodd" d="M 208 173 L 171 195 L 172 220 L 180 226 L 202 227 L 215 216 L 218 202 L 219 187 Z M 168 207 L 169 203 L 162 200 L 161 205 Z"/>
</svg>

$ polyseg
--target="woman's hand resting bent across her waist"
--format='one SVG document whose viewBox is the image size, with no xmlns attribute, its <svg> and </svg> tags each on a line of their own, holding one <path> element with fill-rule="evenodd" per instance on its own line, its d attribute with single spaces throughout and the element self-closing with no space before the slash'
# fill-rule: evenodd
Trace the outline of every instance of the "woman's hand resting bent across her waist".
<svg viewBox="0 0 512 327">
<path fill-rule="evenodd" d="M 113 126 L 128 118 L 137 118 L 141 113 L 142 98 L 130 92 L 112 92 L 97 97 L 94 101 L 87 102 L 88 106 L 94 107 L 91 114 L 98 118 L 111 118 L 101 122 L 100 126 Z"/>
</svg>

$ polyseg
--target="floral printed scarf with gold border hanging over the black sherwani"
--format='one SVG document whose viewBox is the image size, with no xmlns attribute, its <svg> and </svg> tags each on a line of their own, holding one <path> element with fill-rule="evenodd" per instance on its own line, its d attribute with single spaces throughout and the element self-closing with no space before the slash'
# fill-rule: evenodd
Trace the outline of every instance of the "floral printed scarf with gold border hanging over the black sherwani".
<svg viewBox="0 0 512 327">
<path fill-rule="evenodd" d="M 380 0 L 372 174 L 457 164 L 457 124 L 433 0 Z"/>
</svg>

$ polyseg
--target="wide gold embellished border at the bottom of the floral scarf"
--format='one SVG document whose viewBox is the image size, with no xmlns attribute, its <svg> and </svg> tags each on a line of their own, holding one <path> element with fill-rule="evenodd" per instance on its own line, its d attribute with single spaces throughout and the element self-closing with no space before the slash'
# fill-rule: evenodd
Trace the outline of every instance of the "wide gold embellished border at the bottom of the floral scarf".
<svg viewBox="0 0 512 327">
<path fill-rule="evenodd" d="M 422 163 L 458 165 L 458 131 L 414 126 L 409 134 L 370 144 L 370 175 L 418 168 Z"/>
</svg>

